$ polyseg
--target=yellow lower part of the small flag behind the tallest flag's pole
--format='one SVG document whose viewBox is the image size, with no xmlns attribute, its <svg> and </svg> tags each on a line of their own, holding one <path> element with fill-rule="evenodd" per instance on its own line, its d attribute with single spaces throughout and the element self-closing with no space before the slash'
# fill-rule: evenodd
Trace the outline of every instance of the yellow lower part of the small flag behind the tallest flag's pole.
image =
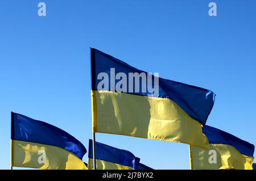
<svg viewBox="0 0 256 181">
<path fill-rule="evenodd" d="M 88 158 L 88 169 L 93 169 L 93 159 Z M 96 159 L 96 170 L 134 170 L 132 167 Z"/>
</svg>

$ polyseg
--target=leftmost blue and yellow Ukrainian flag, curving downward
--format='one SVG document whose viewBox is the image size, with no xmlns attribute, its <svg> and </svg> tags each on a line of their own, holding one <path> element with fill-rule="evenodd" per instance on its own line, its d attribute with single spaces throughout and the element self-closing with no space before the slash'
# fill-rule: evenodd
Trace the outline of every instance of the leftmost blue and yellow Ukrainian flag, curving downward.
<svg viewBox="0 0 256 181">
<path fill-rule="evenodd" d="M 87 169 L 84 145 L 67 132 L 11 113 L 11 166 L 35 169 Z"/>
</svg>

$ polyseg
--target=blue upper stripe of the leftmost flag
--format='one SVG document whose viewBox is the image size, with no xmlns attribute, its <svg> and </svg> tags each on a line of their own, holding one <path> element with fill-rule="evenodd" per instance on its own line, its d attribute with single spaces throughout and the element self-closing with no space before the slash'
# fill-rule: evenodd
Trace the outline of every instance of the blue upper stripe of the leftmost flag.
<svg viewBox="0 0 256 181">
<path fill-rule="evenodd" d="M 80 159 L 86 153 L 84 145 L 67 132 L 51 125 L 12 112 L 11 139 L 58 146 L 71 151 Z"/>
</svg>

